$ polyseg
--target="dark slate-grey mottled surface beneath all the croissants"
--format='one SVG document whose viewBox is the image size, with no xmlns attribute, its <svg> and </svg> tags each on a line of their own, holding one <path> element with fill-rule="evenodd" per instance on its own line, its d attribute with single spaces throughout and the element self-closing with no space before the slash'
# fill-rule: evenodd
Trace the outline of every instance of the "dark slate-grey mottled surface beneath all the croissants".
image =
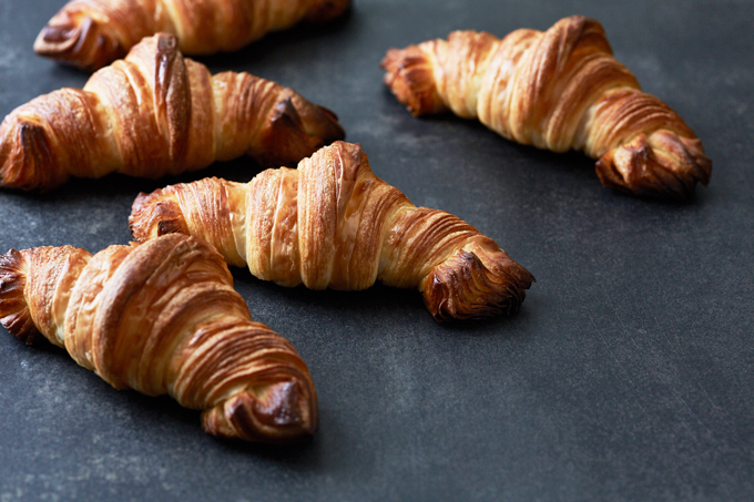
<svg viewBox="0 0 754 502">
<path fill-rule="evenodd" d="M 0 0 L 1 114 L 86 80 L 31 50 L 62 3 Z M 356 0 L 328 30 L 205 59 L 336 111 L 377 175 L 477 226 L 538 283 L 519 315 L 439 325 L 416 291 L 284 289 L 234 270 L 319 392 L 316 438 L 282 450 L 217 441 L 197 412 L 115 391 L 0 329 L 0 501 L 753 500 L 753 7 Z M 703 140 L 712 183 L 692 203 L 602 188 L 593 161 L 477 123 L 414 119 L 381 85 L 389 47 L 573 13 L 599 19 L 644 90 Z M 244 160 L 193 177 L 0 192 L 0 252 L 124 244 L 139 191 L 256 171 Z"/>
</svg>

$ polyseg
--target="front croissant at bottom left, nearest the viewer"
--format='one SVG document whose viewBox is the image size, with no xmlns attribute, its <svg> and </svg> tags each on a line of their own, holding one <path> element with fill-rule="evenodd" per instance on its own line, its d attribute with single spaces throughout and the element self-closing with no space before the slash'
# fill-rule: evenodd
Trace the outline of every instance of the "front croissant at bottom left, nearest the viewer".
<svg viewBox="0 0 754 502">
<path fill-rule="evenodd" d="M 92 256 L 37 247 L 0 256 L 0 321 L 43 335 L 116 389 L 204 410 L 206 432 L 286 442 L 317 427 L 317 395 L 291 342 L 252 321 L 223 258 L 170 235 Z"/>
</svg>

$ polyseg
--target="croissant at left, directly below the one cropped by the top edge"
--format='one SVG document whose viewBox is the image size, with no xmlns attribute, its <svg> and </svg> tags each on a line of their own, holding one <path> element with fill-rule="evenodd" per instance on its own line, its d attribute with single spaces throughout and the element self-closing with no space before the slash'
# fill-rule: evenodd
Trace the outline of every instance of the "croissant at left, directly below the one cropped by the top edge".
<svg viewBox="0 0 754 502">
<path fill-rule="evenodd" d="M 16 109 L 0 124 L 0 187 L 50 189 L 70 176 L 159 177 L 251 155 L 295 165 L 344 137 L 335 114 L 248 73 L 212 76 L 175 37 Z"/>
</svg>

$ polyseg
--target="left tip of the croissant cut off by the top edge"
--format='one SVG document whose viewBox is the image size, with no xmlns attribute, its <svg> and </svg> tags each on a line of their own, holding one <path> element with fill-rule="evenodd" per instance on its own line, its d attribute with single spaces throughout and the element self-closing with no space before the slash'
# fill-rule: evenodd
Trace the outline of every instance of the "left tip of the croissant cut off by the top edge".
<svg viewBox="0 0 754 502">
<path fill-rule="evenodd" d="M 55 14 L 37 37 L 34 52 L 86 71 L 99 70 L 125 55 L 126 50 L 102 23 L 77 14 Z"/>
</svg>

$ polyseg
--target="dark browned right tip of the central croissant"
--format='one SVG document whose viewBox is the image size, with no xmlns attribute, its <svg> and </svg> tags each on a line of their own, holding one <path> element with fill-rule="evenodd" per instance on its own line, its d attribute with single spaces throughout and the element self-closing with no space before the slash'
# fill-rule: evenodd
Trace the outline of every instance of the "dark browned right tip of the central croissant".
<svg viewBox="0 0 754 502">
<path fill-rule="evenodd" d="M 502 249 L 470 243 L 436 266 L 421 290 L 438 321 L 479 319 L 518 311 L 533 281 Z"/>
</svg>

